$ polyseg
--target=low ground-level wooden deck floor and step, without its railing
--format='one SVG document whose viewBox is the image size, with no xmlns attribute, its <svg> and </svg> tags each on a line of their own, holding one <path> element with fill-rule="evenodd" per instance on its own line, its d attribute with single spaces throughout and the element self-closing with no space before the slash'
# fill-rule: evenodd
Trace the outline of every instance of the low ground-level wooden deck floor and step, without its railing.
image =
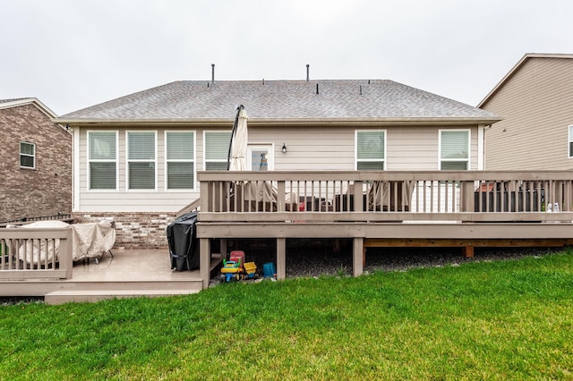
<svg viewBox="0 0 573 381">
<path fill-rule="evenodd" d="M 71 279 L 0 281 L 2 296 L 44 296 L 47 304 L 101 301 L 125 297 L 156 297 L 199 292 L 199 270 L 174 271 L 166 250 L 112 250 L 73 264 Z M 213 258 L 212 266 L 218 264 Z"/>
</svg>

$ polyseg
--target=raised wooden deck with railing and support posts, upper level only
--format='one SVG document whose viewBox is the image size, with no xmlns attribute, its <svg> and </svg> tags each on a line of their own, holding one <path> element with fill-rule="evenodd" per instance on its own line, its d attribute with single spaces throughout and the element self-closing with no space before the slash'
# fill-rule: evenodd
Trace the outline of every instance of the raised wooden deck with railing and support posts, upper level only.
<svg viewBox="0 0 573 381">
<path fill-rule="evenodd" d="M 352 239 L 355 276 L 372 247 L 459 247 L 472 257 L 475 247 L 573 243 L 571 171 L 210 171 L 198 178 L 202 262 L 213 238 L 274 238 L 278 279 L 286 276 L 289 238 Z"/>
</svg>

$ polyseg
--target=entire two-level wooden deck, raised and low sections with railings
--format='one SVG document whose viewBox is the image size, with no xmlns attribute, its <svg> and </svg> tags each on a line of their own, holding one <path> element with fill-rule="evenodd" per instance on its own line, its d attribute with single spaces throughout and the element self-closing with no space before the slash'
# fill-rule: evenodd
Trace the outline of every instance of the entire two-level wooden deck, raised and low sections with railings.
<svg viewBox="0 0 573 381">
<path fill-rule="evenodd" d="M 61 303 L 198 292 L 221 259 L 214 240 L 221 253 L 227 240 L 276 240 L 278 279 L 286 277 L 288 239 L 351 240 L 355 276 L 373 247 L 459 247 L 471 257 L 475 247 L 573 244 L 571 171 L 221 171 L 199 172 L 198 180 L 201 200 L 189 208 L 200 208 L 199 271 L 173 272 L 167 249 L 114 250 L 99 264 L 73 264 L 70 229 L 0 229 L 0 247 L 60 242 L 57 265 L 43 259 L 21 268 L 26 257 L 0 256 L 0 295 Z"/>
</svg>

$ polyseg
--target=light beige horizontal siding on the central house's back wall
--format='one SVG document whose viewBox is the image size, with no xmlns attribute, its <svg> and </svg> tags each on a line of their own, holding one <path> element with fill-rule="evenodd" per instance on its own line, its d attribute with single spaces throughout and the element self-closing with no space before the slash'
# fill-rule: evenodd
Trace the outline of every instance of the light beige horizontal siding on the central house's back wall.
<svg viewBox="0 0 573 381">
<path fill-rule="evenodd" d="M 386 131 L 386 170 L 437 170 L 439 168 L 438 141 L 440 129 L 468 129 L 465 126 L 419 126 L 372 128 Z M 77 210 L 80 212 L 171 212 L 188 205 L 199 197 L 199 187 L 195 190 L 166 190 L 165 177 L 165 130 L 175 131 L 174 127 L 154 128 L 157 131 L 158 189 L 127 190 L 125 159 L 125 128 L 98 128 L 98 131 L 118 131 L 118 172 L 119 187 L 115 190 L 88 190 L 87 188 L 87 129 L 77 128 L 80 133 L 80 198 Z M 144 131 L 141 127 L 135 131 Z M 182 126 L 182 131 L 195 131 L 195 152 L 197 169 L 203 166 L 203 131 L 205 129 Z M 355 169 L 355 130 L 363 127 L 269 127 L 249 126 L 249 143 L 272 144 L 274 147 L 274 167 L 278 171 L 353 171 Z M 477 168 L 477 127 L 471 132 L 470 169 Z M 207 131 L 217 131 L 209 129 Z M 218 131 L 223 131 L 222 129 Z M 287 152 L 281 148 L 286 145 Z"/>
</svg>

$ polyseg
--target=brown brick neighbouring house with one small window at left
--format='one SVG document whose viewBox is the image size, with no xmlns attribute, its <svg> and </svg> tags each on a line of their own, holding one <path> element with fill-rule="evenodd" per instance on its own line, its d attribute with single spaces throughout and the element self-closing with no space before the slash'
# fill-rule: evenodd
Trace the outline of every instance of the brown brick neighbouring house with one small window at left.
<svg viewBox="0 0 573 381">
<path fill-rule="evenodd" d="M 71 214 L 72 133 L 35 97 L 0 100 L 0 223 Z"/>
</svg>

